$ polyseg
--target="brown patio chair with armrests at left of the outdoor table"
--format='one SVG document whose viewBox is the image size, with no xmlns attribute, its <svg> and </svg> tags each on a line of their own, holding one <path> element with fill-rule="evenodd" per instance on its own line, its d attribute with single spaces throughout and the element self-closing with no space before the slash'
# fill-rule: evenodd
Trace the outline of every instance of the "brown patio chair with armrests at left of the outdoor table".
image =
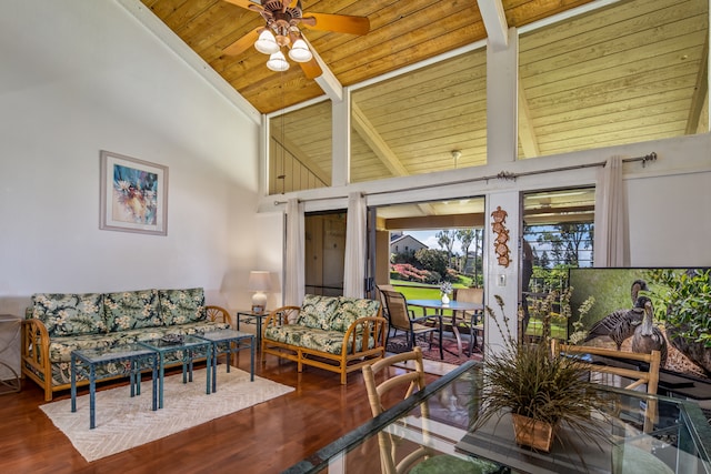
<svg viewBox="0 0 711 474">
<path fill-rule="evenodd" d="M 415 317 L 414 313 L 408 307 L 408 300 L 404 295 L 397 291 L 383 290 L 385 296 L 385 306 L 388 307 L 388 316 L 390 317 L 390 326 L 394 329 L 393 336 L 398 334 L 398 330 L 405 333 L 408 349 L 415 346 L 415 337 L 418 335 L 430 335 L 430 350 L 432 349 L 432 333 L 439 332 L 440 359 L 444 359 L 442 349 L 442 316 L 440 314 L 429 314 Z M 390 330 L 388 330 L 388 339 L 390 339 Z M 385 346 L 388 342 L 385 341 Z"/>
</svg>

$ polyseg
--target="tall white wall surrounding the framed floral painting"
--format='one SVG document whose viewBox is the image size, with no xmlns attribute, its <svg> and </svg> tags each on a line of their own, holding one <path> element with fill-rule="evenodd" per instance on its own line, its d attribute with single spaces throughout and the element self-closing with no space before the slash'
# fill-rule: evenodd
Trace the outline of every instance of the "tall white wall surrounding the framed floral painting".
<svg viewBox="0 0 711 474">
<path fill-rule="evenodd" d="M 113 0 L 2 7 L 0 313 L 34 292 L 187 286 L 246 307 L 258 124 Z M 167 236 L 99 230 L 102 149 L 169 168 Z"/>
</svg>

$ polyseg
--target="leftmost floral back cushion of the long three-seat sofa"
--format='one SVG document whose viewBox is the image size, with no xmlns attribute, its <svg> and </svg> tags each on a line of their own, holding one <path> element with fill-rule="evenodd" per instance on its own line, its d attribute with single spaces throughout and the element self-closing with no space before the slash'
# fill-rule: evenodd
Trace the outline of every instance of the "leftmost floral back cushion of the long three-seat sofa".
<svg viewBox="0 0 711 474">
<path fill-rule="evenodd" d="M 50 337 L 107 332 L 101 293 L 37 293 L 31 316 L 44 323 Z"/>
</svg>

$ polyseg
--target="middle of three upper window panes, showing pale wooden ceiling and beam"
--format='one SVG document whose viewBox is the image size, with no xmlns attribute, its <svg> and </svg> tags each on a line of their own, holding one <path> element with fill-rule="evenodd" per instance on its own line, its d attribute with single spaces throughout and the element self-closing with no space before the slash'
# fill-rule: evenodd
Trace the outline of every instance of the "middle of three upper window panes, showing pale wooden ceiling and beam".
<svg viewBox="0 0 711 474">
<path fill-rule="evenodd" d="M 353 91 L 351 103 L 351 182 L 487 162 L 483 49 Z"/>
</svg>

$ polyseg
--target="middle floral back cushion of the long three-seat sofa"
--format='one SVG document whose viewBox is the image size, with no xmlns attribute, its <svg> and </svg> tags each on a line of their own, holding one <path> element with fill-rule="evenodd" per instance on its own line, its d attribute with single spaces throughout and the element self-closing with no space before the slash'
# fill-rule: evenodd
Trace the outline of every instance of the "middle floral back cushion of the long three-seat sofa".
<svg viewBox="0 0 711 474">
<path fill-rule="evenodd" d="M 106 293 L 103 305 L 109 332 L 163 325 L 157 290 Z"/>
</svg>

